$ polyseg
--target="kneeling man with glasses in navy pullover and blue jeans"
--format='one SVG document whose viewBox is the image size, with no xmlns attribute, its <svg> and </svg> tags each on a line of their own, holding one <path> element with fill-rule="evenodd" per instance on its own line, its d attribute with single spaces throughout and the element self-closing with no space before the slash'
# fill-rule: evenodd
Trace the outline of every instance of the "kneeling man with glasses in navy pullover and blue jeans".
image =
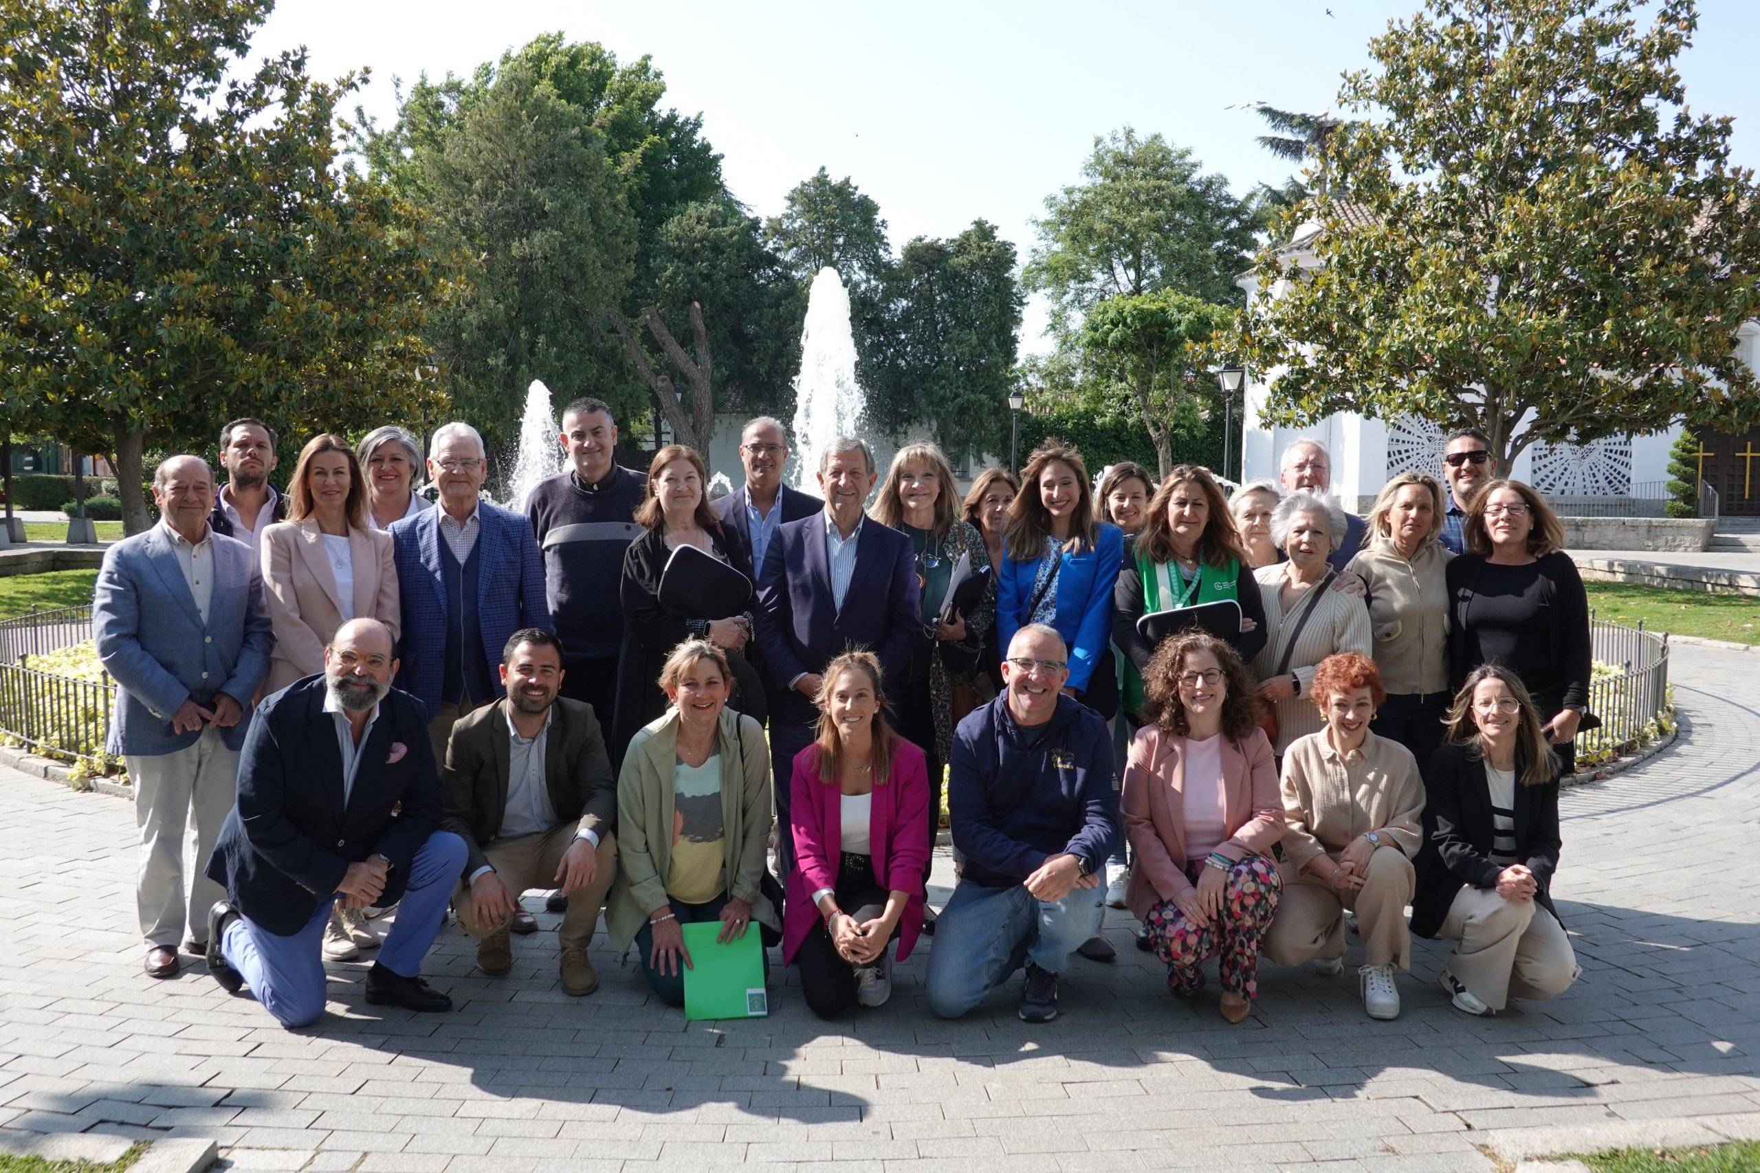
<svg viewBox="0 0 1760 1173">
<path fill-rule="evenodd" d="M 1100 869 L 1119 837 L 1112 735 L 1100 714 L 1060 695 L 1067 656 L 1056 628 L 1016 631 L 1001 695 L 954 733 L 947 807 L 966 862 L 929 953 L 929 1009 L 942 1018 L 966 1013 L 1026 962 L 1021 1018 L 1051 1022 L 1058 974 L 1100 930 Z"/>
</svg>

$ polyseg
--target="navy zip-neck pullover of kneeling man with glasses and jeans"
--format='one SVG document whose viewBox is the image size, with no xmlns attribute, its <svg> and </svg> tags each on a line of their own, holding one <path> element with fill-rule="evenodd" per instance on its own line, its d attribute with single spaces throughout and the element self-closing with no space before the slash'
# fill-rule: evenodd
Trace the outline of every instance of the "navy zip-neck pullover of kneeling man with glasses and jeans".
<svg viewBox="0 0 1760 1173">
<path fill-rule="evenodd" d="M 1070 696 L 1045 725 L 1016 725 L 1001 693 L 954 730 L 947 812 L 972 883 L 1017 885 L 1061 851 L 1098 872 L 1121 834 L 1112 733 Z"/>
</svg>

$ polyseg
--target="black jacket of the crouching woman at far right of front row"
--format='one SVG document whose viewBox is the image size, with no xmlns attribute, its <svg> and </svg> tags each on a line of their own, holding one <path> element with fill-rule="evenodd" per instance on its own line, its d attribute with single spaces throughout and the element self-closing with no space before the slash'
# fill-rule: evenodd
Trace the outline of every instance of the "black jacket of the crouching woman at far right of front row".
<svg viewBox="0 0 1760 1173">
<path fill-rule="evenodd" d="M 1558 783 L 1522 784 L 1524 765 L 1521 760 L 1515 763 L 1515 858 L 1535 874 L 1535 900 L 1556 918 Z M 1461 886 L 1496 888 L 1503 869 L 1491 862 L 1496 828 L 1485 761 L 1477 746 L 1438 747 L 1431 769 L 1424 772 L 1424 846 L 1415 860 L 1419 885 L 1412 899 L 1412 932 L 1434 937 Z"/>
</svg>

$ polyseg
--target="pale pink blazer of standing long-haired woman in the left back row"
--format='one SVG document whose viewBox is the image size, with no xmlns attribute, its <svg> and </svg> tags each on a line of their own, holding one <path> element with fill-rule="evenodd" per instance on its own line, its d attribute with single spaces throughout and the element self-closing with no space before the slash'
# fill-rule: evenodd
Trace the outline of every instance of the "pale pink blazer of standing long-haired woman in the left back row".
<svg viewBox="0 0 1760 1173">
<path fill-rule="evenodd" d="M 373 617 L 398 638 L 398 566 L 389 533 L 348 531 L 348 561 L 354 570 L 354 617 Z M 341 626 L 336 575 L 324 552 L 324 535 L 312 517 L 283 521 L 262 533 L 262 596 L 275 624 L 268 691 L 287 688 L 303 675 L 324 670 L 324 645 Z"/>
</svg>

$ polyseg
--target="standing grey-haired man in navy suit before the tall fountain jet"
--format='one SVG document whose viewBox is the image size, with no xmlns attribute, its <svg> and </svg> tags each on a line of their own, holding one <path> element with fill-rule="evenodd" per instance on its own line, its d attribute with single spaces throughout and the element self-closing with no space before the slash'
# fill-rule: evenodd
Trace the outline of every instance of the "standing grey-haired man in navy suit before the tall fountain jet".
<svg viewBox="0 0 1760 1173">
<path fill-rule="evenodd" d="M 813 740 L 820 672 L 850 647 L 880 658 L 884 684 L 903 686 L 917 638 L 917 554 L 910 538 L 862 514 L 875 487 L 868 445 L 838 436 L 820 457 L 825 508 L 783 522 L 759 572 L 757 635 L 776 688 L 771 707 L 771 772 L 776 786 L 776 855 L 794 867 L 788 777 L 794 754 Z"/>
</svg>

